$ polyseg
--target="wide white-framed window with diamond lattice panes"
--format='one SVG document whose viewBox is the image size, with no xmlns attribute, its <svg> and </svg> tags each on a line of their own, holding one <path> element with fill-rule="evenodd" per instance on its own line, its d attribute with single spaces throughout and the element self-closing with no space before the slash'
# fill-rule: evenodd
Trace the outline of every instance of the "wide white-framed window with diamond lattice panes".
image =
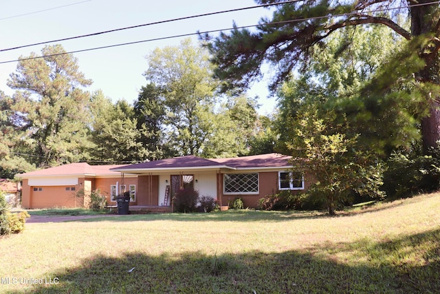
<svg viewBox="0 0 440 294">
<path fill-rule="evenodd" d="M 225 194 L 259 193 L 259 174 L 224 174 L 223 192 Z"/>
</svg>

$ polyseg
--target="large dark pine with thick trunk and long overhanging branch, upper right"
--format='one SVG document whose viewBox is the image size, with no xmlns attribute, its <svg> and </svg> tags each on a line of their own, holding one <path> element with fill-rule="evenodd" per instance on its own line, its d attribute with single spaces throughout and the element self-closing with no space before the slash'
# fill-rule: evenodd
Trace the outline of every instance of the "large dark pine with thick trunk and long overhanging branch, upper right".
<svg viewBox="0 0 440 294">
<path fill-rule="evenodd" d="M 279 3 L 281 0 L 256 0 L 257 3 Z M 404 8 L 399 8 L 404 7 Z M 399 10 L 397 10 L 399 8 Z M 401 23 L 402 10 L 408 11 L 410 28 Z M 380 90 L 389 94 L 397 81 L 412 78 L 420 90 L 421 134 L 424 149 L 435 147 L 440 140 L 439 49 L 440 21 L 437 2 L 422 1 L 298 1 L 276 6 L 272 19 L 261 19 L 256 32 L 234 29 L 230 34 L 221 33 L 210 42 L 212 61 L 217 65 L 215 74 L 224 81 L 223 89 L 245 88 L 261 77 L 261 65 L 272 63 L 276 72 L 270 85 L 272 92 L 298 64 L 307 66 L 310 48 L 325 40 L 341 28 L 375 24 L 385 25 L 405 39 L 406 45 L 380 75 L 381 87 L 366 91 L 364 96 L 377 96 Z M 400 17 L 400 19 L 399 19 Z M 206 39 L 210 39 L 206 36 Z M 408 66 L 410 65 L 410 66 Z M 397 66 L 397 67 L 396 67 Z"/>
</svg>

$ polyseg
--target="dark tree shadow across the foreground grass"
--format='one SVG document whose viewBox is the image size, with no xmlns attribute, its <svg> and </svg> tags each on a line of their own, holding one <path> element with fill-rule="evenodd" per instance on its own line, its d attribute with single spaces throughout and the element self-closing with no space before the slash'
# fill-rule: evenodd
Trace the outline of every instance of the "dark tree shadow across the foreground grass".
<svg viewBox="0 0 440 294">
<path fill-rule="evenodd" d="M 440 229 L 301 251 L 96 255 L 32 293 L 439 293 Z M 340 254 L 345 258 L 338 257 Z M 345 261 L 344 261 L 345 260 Z M 130 272 L 131 271 L 131 272 Z M 20 291 L 10 291 L 21 293 Z"/>
</svg>

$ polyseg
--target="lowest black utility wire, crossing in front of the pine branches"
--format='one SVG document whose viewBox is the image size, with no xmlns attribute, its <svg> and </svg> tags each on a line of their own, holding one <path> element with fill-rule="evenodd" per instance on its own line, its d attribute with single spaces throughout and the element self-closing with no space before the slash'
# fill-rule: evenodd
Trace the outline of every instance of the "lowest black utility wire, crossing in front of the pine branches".
<svg viewBox="0 0 440 294">
<path fill-rule="evenodd" d="M 298 1 L 298 0 L 296 0 Z M 302 1 L 302 0 L 300 0 Z M 434 3 L 439 3 L 439 1 L 433 1 L 433 2 L 429 2 L 429 3 L 420 3 L 420 4 L 414 4 L 414 5 L 410 5 L 410 6 L 399 6 L 399 7 L 395 7 L 395 8 L 382 8 L 382 9 L 378 9 L 378 10 L 371 10 L 369 11 L 369 13 L 372 12 L 382 12 L 382 11 L 386 11 L 386 10 L 396 10 L 396 9 L 401 9 L 401 8 L 410 8 L 410 7 L 415 7 L 415 6 L 428 6 Z M 333 15 L 326 15 L 326 16 L 322 16 L 322 17 L 308 17 L 308 18 L 304 18 L 304 19 L 292 19 L 289 21 L 277 21 L 274 23 L 265 23 L 264 25 L 278 25 L 278 24 L 285 24 L 285 23 L 294 23 L 294 22 L 300 22 L 300 21 L 309 21 L 309 20 L 313 20 L 313 19 L 326 19 L 326 18 L 331 18 L 331 17 L 349 17 L 351 15 L 356 15 L 358 14 L 358 12 L 350 12 L 350 13 L 343 13 L 343 14 L 333 14 Z M 159 37 L 159 38 L 155 38 L 155 39 L 146 39 L 146 40 L 142 40 L 142 41 L 133 41 L 133 42 L 129 42 L 129 43 L 119 43 L 119 44 L 113 44 L 113 45 L 106 45 L 106 46 L 101 46 L 101 47 L 96 47 L 96 48 L 88 48 L 88 49 L 82 49 L 82 50 L 74 50 L 74 51 L 69 51 L 69 52 L 63 52 L 63 53 L 57 53 L 57 54 L 50 54 L 50 55 L 44 55 L 44 56 L 34 56 L 34 57 L 28 57 L 28 58 L 23 58 L 23 59 L 15 59 L 15 60 L 10 60 L 10 61 L 0 61 L 0 64 L 3 63 L 12 63 L 12 62 L 17 62 L 17 61 L 26 61 L 26 60 L 31 60 L 31 59 L 42 59 L 45 57 L 51 57 L 51 56 L 59 56 L 59 55 L 65 55 L 65 54 L 73 54 L 73 53 L 78 53 L 78 52 L 87 52 L 87 51 L 92 51 L 92 50 L 100 50 L 100 49 L 105 49 L 105 48 L 113 48 L 113 47 L 119 47 L 119 46 L 124 46 L 124 45 L 133 45 L 133 44 L 138 44 L 138 43 L 146 43 L 146 42 L 151 42 L 151 41 L 159 41 L 159 40 L 165 40 L 165 39 L 174 39 L 174 38 L 179 38 L 179 37 L 183 37 L 183 36 L 194 36 L 196 34 L 210 34 L 213 32 L 221 32 L 224 30 L 237 30 L 237 29 L 243 29 L 243 28 L 253 28 L 256 26 L 259 26 L 261 24 L 258 25 L 244 25 L 241 27 L 234 27 L 234 28 L 223 28 L 223 29 L 219 29 L 219 30 L 209 30 L 209 31 L 205 31 L 205 32 L 192 32 L 192 33 L 188 33 L 188 34 L 177 34 L 177 35 L 173 35 L 173 36 L 163 36 L 163 37 Z"/>
</svg>

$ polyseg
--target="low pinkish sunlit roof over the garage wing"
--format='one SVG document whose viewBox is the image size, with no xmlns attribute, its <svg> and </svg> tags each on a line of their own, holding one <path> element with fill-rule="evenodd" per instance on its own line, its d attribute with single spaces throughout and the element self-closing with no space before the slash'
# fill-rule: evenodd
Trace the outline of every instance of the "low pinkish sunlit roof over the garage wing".
<svg viewBox="0 0 440 294">
<path fill-rule="evenodd" d="M 118 176 L 120 173 L 111 169 L 124 165 L 89 165 L 87 162 L 69 163 L 58 167 L 49 167 L 38 171 L 18 174 L 21 178 L 40 176 Z"/>
</svg>

